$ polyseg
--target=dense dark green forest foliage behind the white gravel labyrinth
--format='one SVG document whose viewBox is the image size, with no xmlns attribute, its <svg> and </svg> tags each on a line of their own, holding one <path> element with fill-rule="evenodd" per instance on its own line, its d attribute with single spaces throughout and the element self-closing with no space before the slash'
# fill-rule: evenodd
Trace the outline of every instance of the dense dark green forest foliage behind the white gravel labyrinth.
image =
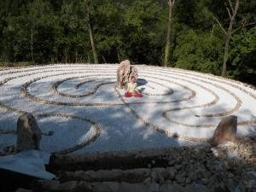
<svg viewBox="0 0 256 192">
<path fill-rule="evenodd" d="M 239 2 L 228 42 L 227 76 L 253 83 L 256 1 Z M 220 75 L 236 3 L 176 0 L 167 66 Z M 164 66 L 169 6 L 168 0 L 0 0 L 1 65 L 95 62 L 97 56 L 100 63 L 128 58 Z"/>
</svg>

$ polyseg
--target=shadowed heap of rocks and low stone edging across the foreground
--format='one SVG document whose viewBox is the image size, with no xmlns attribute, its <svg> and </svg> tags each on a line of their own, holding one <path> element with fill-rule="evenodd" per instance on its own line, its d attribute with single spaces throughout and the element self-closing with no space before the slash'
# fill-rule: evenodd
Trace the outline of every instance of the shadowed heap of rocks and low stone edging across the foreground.
<svg viewBox="0 0 256 192">
<path fill-rule="evenodd" d="M 256 137 L 233 143 L 54 156 L 49 169 L 59 179 L 38 181 L 45 191 L 254 191 Z M 130 164 L 129 164 L 130 162 Z"/>
</svg>

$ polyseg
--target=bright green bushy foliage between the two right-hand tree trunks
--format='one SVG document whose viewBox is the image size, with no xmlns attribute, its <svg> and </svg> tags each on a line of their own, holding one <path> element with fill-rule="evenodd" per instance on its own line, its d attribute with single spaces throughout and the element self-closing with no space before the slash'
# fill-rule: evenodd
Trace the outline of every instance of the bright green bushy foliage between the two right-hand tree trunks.
<svg viewBox="0 0 256 192">
<path fill-rule="evenodd" d="M 183 30 L 177 36 L 174 51 L 175 67 L 204 73 L 220 73 L 222 44 L 219 40 L 202 32 Z"/>
</svg>

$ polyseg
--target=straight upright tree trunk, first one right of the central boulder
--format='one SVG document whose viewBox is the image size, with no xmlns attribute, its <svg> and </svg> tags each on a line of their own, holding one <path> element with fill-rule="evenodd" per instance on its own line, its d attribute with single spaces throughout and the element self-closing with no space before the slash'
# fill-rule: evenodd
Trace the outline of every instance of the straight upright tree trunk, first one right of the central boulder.
<svg viewBox="0 0 256 192">
<path fill-rule="evenodd" d="M 166 49 L 165 49 L 165 63 L 164 66 L 167 67 L 167 64 L 170 61 L 170 47 L 171 47 L 171 30 L 172 30 L 172 8 L 175 3 L 175 0 L 169 0 L 169 18 L 168 18 L 168 28 L 166 36 Z"/>
</svg>

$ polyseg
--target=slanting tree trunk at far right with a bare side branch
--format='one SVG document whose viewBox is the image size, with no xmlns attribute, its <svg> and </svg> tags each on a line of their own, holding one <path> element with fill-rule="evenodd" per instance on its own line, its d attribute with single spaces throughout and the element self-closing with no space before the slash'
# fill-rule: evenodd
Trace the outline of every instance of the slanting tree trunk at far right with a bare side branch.
<svg viewBox="0 0 256 192">
<path fill-rule="evenodd" d="M 232 5 L 230 4 L 230 6 L 232 6 Z M 225 76 L 227 74 L 227 61 L 228 61 L 228 57 L 229 57 L 230 39 L 232 36 L 232 27 L 235 22 L 238 7 L 239 7 L 239 0 L 236 0 L 236 7 L 234 9 L 234 12 L 233 12 L 231 18 L 230 18 L 230 26 L 229 26 L 228 32 L 226 34 L 225 47 L 224 47 L 224 60 L 223 60 L 223 65 L 222 65 L 221 76 Z"/>
</svg>

